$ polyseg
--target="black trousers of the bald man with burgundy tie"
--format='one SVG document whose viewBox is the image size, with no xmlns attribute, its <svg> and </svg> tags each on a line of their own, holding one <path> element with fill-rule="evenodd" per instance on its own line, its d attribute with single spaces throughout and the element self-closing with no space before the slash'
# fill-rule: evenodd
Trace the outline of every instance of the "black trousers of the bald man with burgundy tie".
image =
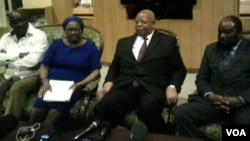
<svg viewBox="0 0 250 141">
<path fill-rule="evenodd" d="M 112 88 L 100 101 L 97 118 L 110 121 L 115 127 L 124 121 L 124 117 L 132 110 L 152 133 L 164 133 L 166 124 L 162 118 L 164 103 L 156 100 L 153 94 L 142 87 L 128 85 L 123 88 Z"/>
</svg>

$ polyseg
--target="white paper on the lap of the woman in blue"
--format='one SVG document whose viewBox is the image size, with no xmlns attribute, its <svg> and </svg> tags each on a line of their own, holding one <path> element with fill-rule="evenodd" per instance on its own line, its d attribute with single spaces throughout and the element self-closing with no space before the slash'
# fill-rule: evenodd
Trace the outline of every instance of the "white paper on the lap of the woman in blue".
<svg viewBox="0 0 250 141">
<path fill-rule="evenodd" d="M 52 91 L 47 91 L 43 97 L 47 102 L 67 102 L 70 101 L 73 89 L 69 89 L 74 81 L 50 80 Z"/>
</svg>

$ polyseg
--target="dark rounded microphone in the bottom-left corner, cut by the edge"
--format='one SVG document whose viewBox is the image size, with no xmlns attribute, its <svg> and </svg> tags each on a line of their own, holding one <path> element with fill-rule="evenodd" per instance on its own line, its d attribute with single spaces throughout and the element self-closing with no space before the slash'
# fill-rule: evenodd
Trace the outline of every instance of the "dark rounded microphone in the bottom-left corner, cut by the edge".
<svg viewBox="0 0 250 141">
<path fill-rule="evenodd" d="M 6 136 L 18 125 L 18 119 L 13 114 L 8 114 L 0 118 L 0 138 Z"/>
</svg>

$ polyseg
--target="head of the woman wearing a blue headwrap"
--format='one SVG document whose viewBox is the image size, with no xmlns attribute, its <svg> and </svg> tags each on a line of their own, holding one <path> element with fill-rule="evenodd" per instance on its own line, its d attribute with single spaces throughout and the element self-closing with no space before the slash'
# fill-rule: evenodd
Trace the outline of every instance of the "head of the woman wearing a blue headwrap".
<svg viewBox="0 0 250 141">
<path fill-rule="evenodd" d="M 80 18 L 68 17 L 64 20 L 62 27 L 69 42 L 77 43 L 81 40 L 84 24 Z"/>
</svg>

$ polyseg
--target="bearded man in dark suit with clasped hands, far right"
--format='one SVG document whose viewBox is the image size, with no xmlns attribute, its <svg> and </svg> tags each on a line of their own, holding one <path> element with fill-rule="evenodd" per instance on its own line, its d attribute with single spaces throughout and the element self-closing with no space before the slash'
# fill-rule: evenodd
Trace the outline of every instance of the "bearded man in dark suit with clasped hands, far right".
<svg viewBox="0 0 250 141">
<path fill-rule="evenodd" d="M 196 78 L 198 94 L 176 108 L 180 136 L 204 138 L 209 123 L 250 124 L 250 41 L 238 17 L 223 18 L 218 41 L 207 46 Z"/>
</svg>

